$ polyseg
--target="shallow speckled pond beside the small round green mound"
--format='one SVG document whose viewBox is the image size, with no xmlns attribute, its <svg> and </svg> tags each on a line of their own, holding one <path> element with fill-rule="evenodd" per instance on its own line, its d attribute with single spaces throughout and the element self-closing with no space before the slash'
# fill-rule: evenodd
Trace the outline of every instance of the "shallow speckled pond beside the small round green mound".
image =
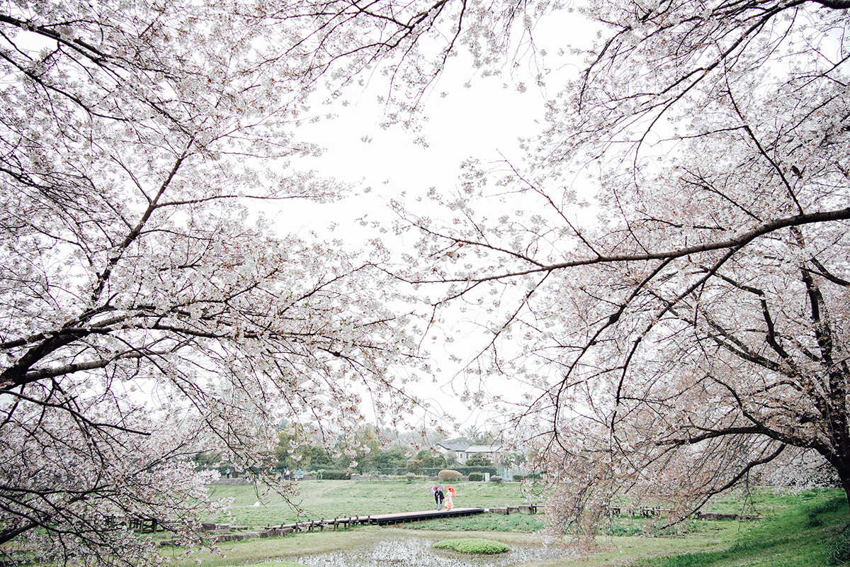
<svg viewBox="0 0 850 567">
<path fill-rule="evenodd" d="M 511 551 L 496 555 L 466 555 L 433 549 L 439 541 L 427 537 L 389 537 L 368 545 L 343 551 L 316 553 L 290 561 L 309 567 L 508 567 L 547 558 L 564 557 L 562 547 L 543 545 L 511 545 Z"/>
</svg>

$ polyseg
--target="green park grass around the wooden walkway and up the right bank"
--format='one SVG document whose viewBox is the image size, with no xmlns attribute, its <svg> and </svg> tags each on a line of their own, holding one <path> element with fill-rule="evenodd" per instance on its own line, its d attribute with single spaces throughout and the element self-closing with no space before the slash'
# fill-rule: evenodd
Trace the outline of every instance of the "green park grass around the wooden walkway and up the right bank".
<svg viewBox="0 0 850 567">
<path fill-rule="evenodd" d="M 425 483 L 382 483 L 370 481 L 305 481 L 301 483 L 302 506 L 311 518 L 365 515 L 429 509 L 433 500 Z M 498 507 L 523 501 L 519 485 L 456 483 L 459 507 Z M 215 487 L 214 496 L 233 496 L 236 523 L 252 526 L 292 521 L 295 514 L 282 501 L 269 498 L 255 507 L 258 495 L 251 487 Z M 757 492 L 745 506 L 740 495 L 713 502 L 706 511 L 759 513 L 753 522 L 694 521 L 687 533 L 667 536 L 633 536 L 639 519 L 619 519 L 606 526 L 598 537 L 596 553 L 547 560 L 535 567 L 809 567 L 828 564 L 830 541 L 850 521 L 842 490 L 809 490 L 799 495 L 780 496 L 768 490 Z M 485 537 L 511 544 L 541 543 L 532 530 L 541 527 L 541 517 L 486 514 L 479 517 L 434 520 L 406 524 L 404 528 L 368 527 L 339 532 L 307 533 L 297 536 L 223 544 L 227 558 L 198 553 L 178 564 L 205 567 L 258 563 L 270 558 L 350 549 L 375 541 L 388 533 L 439 539 L 470 536 L 469 528 L 487 531 Z M 388 530 L 393 530 L 388 532 Z M 623 535 L 626 534 L 626 535 Z M 175 553 L 176 550 L 165 552 Z M 177 557 L 175 557 L 177 558 Z M 275 564 L 275 567 L 281 567 Z"/>
</svg>

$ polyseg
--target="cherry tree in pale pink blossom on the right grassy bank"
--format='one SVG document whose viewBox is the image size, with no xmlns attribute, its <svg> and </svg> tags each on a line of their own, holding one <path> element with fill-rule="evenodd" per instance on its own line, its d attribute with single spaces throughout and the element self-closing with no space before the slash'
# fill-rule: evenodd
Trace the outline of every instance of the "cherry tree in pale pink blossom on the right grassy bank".
<svg viewBox="0 0 850 567">
<path fill-rule="evenodd" d="M 803 461 L 850 497 L 848 8 L 582 3 L 600 38 L 526 161 L 467 162 L 445 221 L 396 205 L 402 277 L 484 333 L 467 376 L 550 436 L 558 529 Z"/>
</svg>

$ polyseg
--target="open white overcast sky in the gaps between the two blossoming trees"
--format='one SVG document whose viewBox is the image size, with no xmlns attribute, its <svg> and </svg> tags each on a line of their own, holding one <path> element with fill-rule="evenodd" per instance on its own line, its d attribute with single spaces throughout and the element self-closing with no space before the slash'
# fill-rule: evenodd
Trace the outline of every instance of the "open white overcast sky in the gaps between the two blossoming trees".
<svg viewBox="0 0 850 567">
<path fill-rule="evenodd" d="M 570 27 L 581 29 L 575 25 L 575 16 L 572 18 Z M 536 33 L 538 46 L 548 48 L 553 54 L 558 48 L 566 48 L 564 19 L 549 20 L 547 26 L 549 31 Z M 576 37 L 574 34 L 571 39 Z M 337 117 L 306 125 L 297 134 L 298 139 L 320 145 L 325 151 L 318 158 L 302 158 L 292 166 L 314 169 L 322 177 L 351 184 L 358 195 L 330 205 L 287 204 L 275 219 L 288 230 L 298 230 L 300 225 L 301 230 L 313 230 L 328 239 L 342 238 L 355 246 L 365 237 L 355 219 L 367 214 L 370 219 L 386 219 L 390 223 L 392 218 L 385 207 L 388 199 L 403 191 L 416 196 L 423 195 L 430 187 L 454 188 L 459 165 L 467 158 L 495 162 L 507 157 L 519 162 L 522 154 L 518 139 L 534 136 L 541 130 L 539 121 L 545 111 L 544 103 L 561 88 L 562 82 L 553 82 L 547 92 L 534 86 L 531 76 L 535 71 L 528 67 L 514 70 L 513 77 L 481 78 L 474 77 L 464 55 L 449 61 L 447 71 L 425 99 L 428 122 L 423 122 L 422 134 L 428 140 L 427 148 L 414 144 L 416 134 L 405 132 L 400 126 L 381 128 L 382 106 L 377 103 L 377 95 L 383 93 L 377 85 L 360 93 L 353 92 L 348 106 L 317 106 L 314 109 L 317 114 L 331 112 Z M 559 67 L 554 74 L 578 69 L 576 65 L 568 65 L 568 59 L 563 56 L 553 56 L 549 62 Z M 517 82 L 529 87 L 519 92 Z M 367 187 L 371 192 L 365 194 Z M 327 227 L 334 223 L 338 228 L 331 235 Z M 432 352 L 435 366 L 441 369 L 436 384 L 439 390 L 434 390 L 433 383 L 422 384 L 422 391 L 417 394 L 445 406 L 464 428 L 475 422 L 483 424 L 482 417 L 455 400 L 450 381 L 456 367 L 440 353 L 439 344 L 432 345 Z"/>
</svg>

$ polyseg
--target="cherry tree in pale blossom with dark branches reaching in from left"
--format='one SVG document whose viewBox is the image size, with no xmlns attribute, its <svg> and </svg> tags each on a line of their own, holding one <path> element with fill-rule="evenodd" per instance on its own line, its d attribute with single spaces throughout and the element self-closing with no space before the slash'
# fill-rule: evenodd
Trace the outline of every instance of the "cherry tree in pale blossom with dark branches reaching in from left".
<svg viewBox="0 0 850 567">
<path fill-rule="evenodd" d="M 389 9 L 389 8 L 388 8 Z M 433 20 L 436 7 L 419 19 Z M 411 16 L 413 17 L 413 16 Z M 373 22 L 370 27 L 368 22 Z M 378 25 L 379 24 L 379 25 Z M 394 31 L 388 31 L 394 26 Z M 348 3 L 14 2 L 0 13 L 0 543 L 148 564 L 128 520 L 199 543 L 191 456 L 257 470 L 275 423 L 397 423 L 416 360 L 380 246 L 269 225 L 322 77 L 415 43 Z M 353 31 L 372 41 L 355 46 Z"/>
</svg>

